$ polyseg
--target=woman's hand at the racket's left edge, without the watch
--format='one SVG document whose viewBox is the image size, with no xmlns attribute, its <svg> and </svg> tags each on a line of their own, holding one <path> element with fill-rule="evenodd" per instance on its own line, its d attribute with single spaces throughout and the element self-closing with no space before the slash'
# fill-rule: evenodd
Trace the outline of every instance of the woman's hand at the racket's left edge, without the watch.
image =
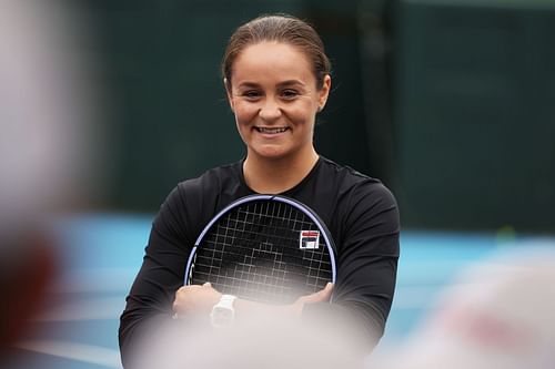
<svg viewBox="0 0 555 369">
<path fill-rule="evenodd" d="M 175 293 L 173 311 L 178 315 L 205 315 L 208 317 L 221 297 L 222 294 L 212 288 L 210 283 L 202 286 L 183 286 Z"/>
</svg>

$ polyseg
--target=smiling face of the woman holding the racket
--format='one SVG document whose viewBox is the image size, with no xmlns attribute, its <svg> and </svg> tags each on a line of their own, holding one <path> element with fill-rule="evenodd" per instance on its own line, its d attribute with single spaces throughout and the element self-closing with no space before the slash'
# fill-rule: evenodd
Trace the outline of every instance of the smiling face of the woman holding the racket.
<svg viewBox="0 0 555 369">
<path fill-rule="evenodd" d="M 246 47 L 233 62 L 228 98 L 248 155 L 302 158 L 311 153 L 315 115 L 330 85 L 326 75 L 323 88 L 316 88 L 309 59 L 295 47 Z"/>
</svg>

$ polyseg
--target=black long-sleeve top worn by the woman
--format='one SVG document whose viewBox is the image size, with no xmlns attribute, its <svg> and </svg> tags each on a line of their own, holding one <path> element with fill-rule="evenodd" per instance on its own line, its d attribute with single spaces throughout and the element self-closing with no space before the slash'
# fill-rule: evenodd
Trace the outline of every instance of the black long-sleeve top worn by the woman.
<svg viewBox="0 0 555 369">
<path fill-rule="evenodd" d="M 172 316 L 175 291 L 183 285 L 189 254 L 203 227 L 223 207 L 251 194 L 238 162 L 184 181 L 168 196 L 121 316 L 124 366 L 149 327 Z M 383 335 L 395 288 L 400 255 L 395 198 L 380 181 L 323 157 L 300 184 L 281 195 L 312 208 L 336 246 L 333 304 L 306 305 L 303 317 L 349 315 L 372 348 Z"/>
</svg>

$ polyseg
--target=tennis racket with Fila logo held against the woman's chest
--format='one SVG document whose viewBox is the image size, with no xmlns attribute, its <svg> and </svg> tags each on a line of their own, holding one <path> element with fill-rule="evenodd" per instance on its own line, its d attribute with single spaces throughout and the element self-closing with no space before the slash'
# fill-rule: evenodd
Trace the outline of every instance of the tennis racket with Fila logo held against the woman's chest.
<svg viewBox="0 0 555 369">
<path fill-rule="evenodd" d="M 240 198 L 204 227 L 189 257 L 186 285 L 291 304 L 335 283 L 335 246 L 317 215 L 276 195 Z"/>
</svg>

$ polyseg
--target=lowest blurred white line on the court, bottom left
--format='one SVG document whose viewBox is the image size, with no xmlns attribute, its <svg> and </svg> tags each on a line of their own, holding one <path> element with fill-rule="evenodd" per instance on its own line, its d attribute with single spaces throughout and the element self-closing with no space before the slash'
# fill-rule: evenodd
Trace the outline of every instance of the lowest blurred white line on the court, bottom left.
<svg viewBox="0 0 555 369">
<path fill-rule="evenodd" d="M 122 368 L 119 351 L 99 346 L 52 340 L 26 340 L 18 342 L 16 347 L 64 359 L 95 363 L 107 368 Z"/>
</svg>

